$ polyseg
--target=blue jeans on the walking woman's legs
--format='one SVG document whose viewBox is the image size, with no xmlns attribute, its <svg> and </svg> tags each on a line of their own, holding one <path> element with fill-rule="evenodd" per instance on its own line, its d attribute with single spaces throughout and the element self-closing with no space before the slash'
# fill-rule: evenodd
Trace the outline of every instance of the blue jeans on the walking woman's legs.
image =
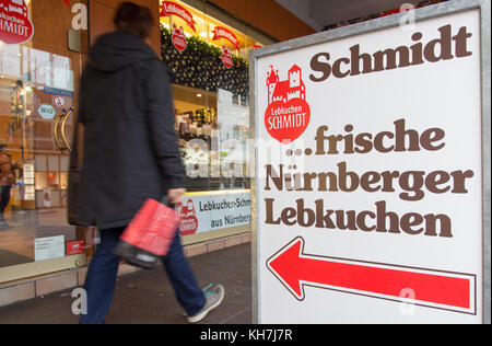
<svg viewBox="0 0 492 346">
<path fill-rule="evenodd" d="M 112 305 L 116 276 L 120 258 L 113 254 L 125 228 L 101 230 L 101 243 L 89 266 L 84 289 L 87 298 L 87 314 L 81 324 L 104 324 Z M 179 232 L 165 257 L 164 267 L 169 276 L 176 298 L 189 316 L 197 314 L 206 304 L 206 298 L 197 284 L 188 261 L 183 253 Z"/>
</svg>

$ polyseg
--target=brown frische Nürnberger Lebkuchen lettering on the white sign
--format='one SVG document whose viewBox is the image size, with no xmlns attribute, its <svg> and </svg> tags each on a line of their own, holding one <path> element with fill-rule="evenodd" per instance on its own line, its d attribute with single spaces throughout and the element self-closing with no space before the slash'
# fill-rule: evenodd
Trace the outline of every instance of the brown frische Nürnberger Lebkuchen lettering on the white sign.
<svg viewBox="0 0 492 346">
<path fill-rule="evenodd" d="M 445 131 L 442 128 L 429 128 L 422 132 L 408 129 L 405 119 L 394 123 L 391 130 L 378 134 L 353 134 L 354 126 L 348 124 L 345 134 L 327 135 L 328 126 L 320 126 L 315 137 L 315 155 L 333 158 L 337 154 L 358 155 L 371 152 L 401 153 L 436 152 L 446 147 Z M 393 157 L 395 160 L 395 157 Z M 345 161 L 325 160 L 332 170 L 324 172 L 286 173 L 283 164 L 267 164 L 263 189 L 266 192 L 318 193 L 320 198 L 309 207 L 306 200 L 298 198 L 295 207 L 277 210 L 274 198 L 265 198 L 265 222 L 268 224 L 300 226 L 337 230 L 361 230 L 380 233 L 423 234 L 427 237 L 453 238 L 452 219 L 445 214 L 407 212 L 398 215 L 389 211 L 386 200 L 375 203 L 373 210 L 327 209 L 327 205 L 337 201 L 335 193 L 397 194 L 402 201 L 423 200 L 427 194 L 468 194 L 468 184 L 475 176 L 471 170 L 444 170 L 425 172 L 414 171 L 367 171 L 363 174 L 350 170 Z M 390 161 L 388 161 L 389 163 Z M 355 195 L 362 198 L 361 195 Z M 409 205 L 410 206 L 410 205 Z M 408 207 L 409 207 L 408 206 Z"/>
</svg>

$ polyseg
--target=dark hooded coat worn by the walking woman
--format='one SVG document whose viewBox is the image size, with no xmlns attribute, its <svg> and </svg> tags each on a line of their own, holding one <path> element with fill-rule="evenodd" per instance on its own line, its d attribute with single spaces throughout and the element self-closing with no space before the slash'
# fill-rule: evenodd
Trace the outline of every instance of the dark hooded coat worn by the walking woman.
<svg viewBox="0 0 492 346">
<path fill-rule="evenodd" d="M 78 224 L 127 226 L 148 198 L 161 200 L 167 188 L 184 187 L 168 70 L 142 39 L 114 32 L 96 41 L 79 107 Z"/>
</svg>

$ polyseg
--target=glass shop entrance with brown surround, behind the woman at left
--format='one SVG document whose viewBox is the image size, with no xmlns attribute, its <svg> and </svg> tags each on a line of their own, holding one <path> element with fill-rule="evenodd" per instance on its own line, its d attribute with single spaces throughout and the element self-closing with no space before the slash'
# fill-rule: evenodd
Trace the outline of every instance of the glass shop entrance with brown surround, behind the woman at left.
<svg viewBox="0 0 492 346">
<path fill-rule="evenodd" d="M 0 0 L 0 165 L 11 172 L 0 199 L 0 287 L 85 266 L 94 251 L 95 230 L 67 222 L 70 145 L 89 46 L 114 30 L 120 2 Z M 159 13 L 159 0 L 133 2 Z M 159 33 L 149 42 L 157 54 Z"/>
</svg>

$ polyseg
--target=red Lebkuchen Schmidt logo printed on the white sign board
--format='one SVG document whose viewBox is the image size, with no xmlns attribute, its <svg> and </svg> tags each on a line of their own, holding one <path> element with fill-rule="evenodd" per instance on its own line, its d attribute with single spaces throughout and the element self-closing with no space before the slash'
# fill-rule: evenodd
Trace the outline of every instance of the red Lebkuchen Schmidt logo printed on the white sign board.
<svg viewBox="0 0 492 346">
<path fill-rule="evenodd" d="M 304 134 L 311 119 L 302 69 L 294 65 L 289 70 L 288 79 L 281 81 L 279 71 L 270 66 L 267 86 L 265 125 L 271 137 L 289 145 Z"/>
</svg>

